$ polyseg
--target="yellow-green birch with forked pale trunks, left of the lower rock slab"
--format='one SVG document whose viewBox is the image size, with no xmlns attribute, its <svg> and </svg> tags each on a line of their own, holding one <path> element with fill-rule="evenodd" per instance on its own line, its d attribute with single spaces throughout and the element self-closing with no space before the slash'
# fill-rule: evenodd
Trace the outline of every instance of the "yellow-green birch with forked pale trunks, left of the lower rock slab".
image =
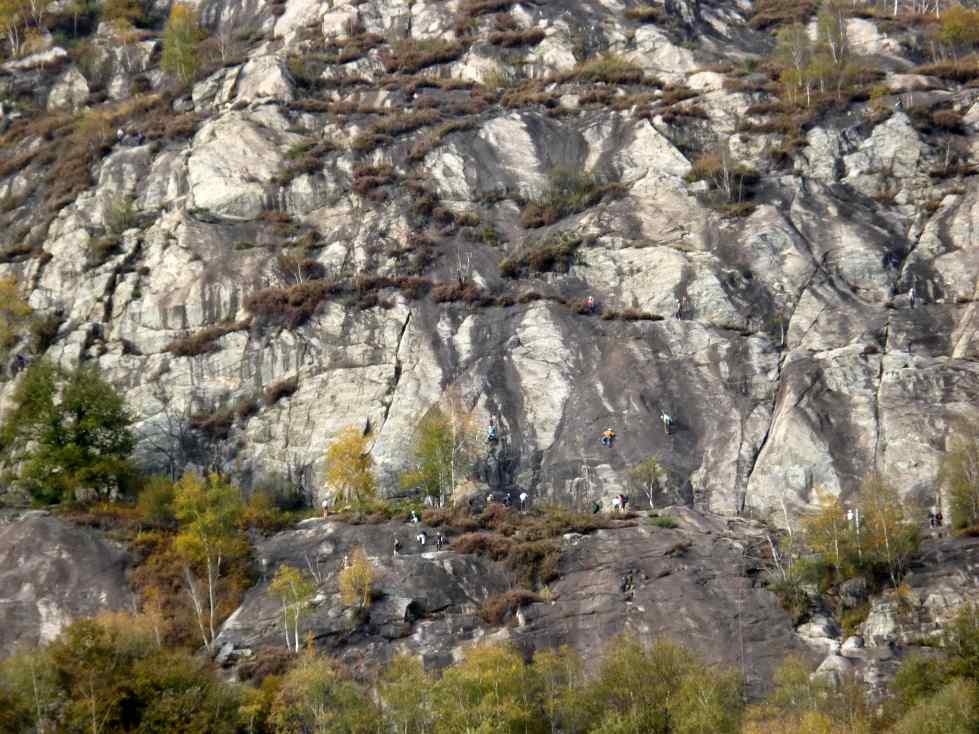
<svg viewBox="0 0 979 734">
<path fill-rule="evenodd" d="M 238 489 L 217 474 L 206 479 L 185 474 L 174 485 L 174 515 L 180 523 L 175 547 L 184 560 L 187 593 L 208 650 L 217 634 L 222 566 L 248 552 L 239 529 L 242 511 Z"/>
</svg>

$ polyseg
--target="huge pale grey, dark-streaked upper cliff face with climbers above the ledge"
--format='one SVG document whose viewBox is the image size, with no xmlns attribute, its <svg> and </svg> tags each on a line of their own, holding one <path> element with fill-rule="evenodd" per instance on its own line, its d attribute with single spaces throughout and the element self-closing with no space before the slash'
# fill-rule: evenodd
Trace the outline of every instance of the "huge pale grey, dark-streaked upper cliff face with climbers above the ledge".
<svg viewBox="0 0 979 734">
<path fill-rule="evenodd" d="M 886 70 L 877 112 L 820 118 L 785 165 L 780 133 L 744 131 L 771 100 L 734 73 L 772 45 L 749 4 L 655 7 L 207 0 L 225 65 L 140 98 L 150 111 L 85 162 L 90 184 L 55 205 L 55 143 L 10 138 L 0 270 L 61 318 L 52 358 L 125 391 L 160 468 L 318 491 L 331 436 L 369 425 L 394 489 L 454 388 L 505 439 L 482 478 L 535 497 L 607 498 L 647 456 L 671 472 L 666 499 L 724 514 L 782 521 L 875 469 L 932 493 L 979 394 L 979 188 L 931 174 L 950 140 L 976 152 L 979 90 L 905 73 L 909 38 L 853 19 Z M 57 111 L 160 88 L 158 40 L 119 48 L 103 28 L 93 46 L 98 78 L 55 49 L 7 64 L 0 89 Z M 646 77 L 589 72 L 601 53 Z M 901 102 L 964 127 L 925 129 Z M 685 179 L 719 142 L 761 174 L 743 218 Z M 559 168 L 614 186 L 524 226 Z M 555 243 L 557 264 L 528 265 Z M 298 270 L 278 261 L 300 249 Z M 580 312 L 589 295 L 599 313 Z"/>
</svg>

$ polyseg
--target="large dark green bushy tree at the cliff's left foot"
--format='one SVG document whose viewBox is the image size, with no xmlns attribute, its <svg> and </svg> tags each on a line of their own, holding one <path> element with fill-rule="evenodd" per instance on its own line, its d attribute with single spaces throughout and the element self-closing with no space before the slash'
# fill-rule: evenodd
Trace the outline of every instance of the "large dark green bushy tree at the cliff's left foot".
<svg viewBox="0 0 979 734">
<path fill-rule="evenodd" d="M 132 421 L 94 368 L 65 372 L 42 361 L 17 385 L 2 438 L 8 451 L 22 450 L 21 478 L 38 501 L 109 497 L 133 486 Z"/>
</svg>

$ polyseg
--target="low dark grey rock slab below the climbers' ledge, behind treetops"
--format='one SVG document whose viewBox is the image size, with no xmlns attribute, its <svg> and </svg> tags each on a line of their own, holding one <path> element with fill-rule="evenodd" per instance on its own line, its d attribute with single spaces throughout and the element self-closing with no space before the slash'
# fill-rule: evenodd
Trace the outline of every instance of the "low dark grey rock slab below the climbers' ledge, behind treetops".
<svg viewBox="0 0 979 734">
<path fill-rule="evenodd" d="M 763 528 L 674 508 L 678 527 L 639 518 L 621 527 L 562 540 L 560 578 L 548 599 L 489 624 L 485 602 L 510 590 L 512 574 L 480 556 L 437 551 L 414 541 L 404 523 L 350 526 L 306 520 L 256 548 L 267 578 L 280 564 L 315 570 L 321 582 L 302 622 L 316 644 L 350 665 L 371 666 L 400 652 L 442 667 L 474 640 L 510 641 L 530 653 L 569 645 L 596 661 L 617 634 L 682 640 L 710 660 L 743 670 L 754 691 L 790 652 L 815 655 L 795 635 L 791 618 L 764 588 L 759 550 Z M 430 543 L 434 528 L 428 532 Z M 444 528 L 443 528 L 444 529 Z M 400 539 L 399 554 L 393 539 Z M 450 532 L 448 540 L 455 538 Z M 364 619 L 340 600 L 337 574 L 362 547 L 375 564 L 377 600 Z M 753 559 L 753 560 L 752 560 Z M 227 621 L 216 647 L 220 661 L 241 663 L 283 640 L 282 609 L 266 580 Z"/>
</svg>

